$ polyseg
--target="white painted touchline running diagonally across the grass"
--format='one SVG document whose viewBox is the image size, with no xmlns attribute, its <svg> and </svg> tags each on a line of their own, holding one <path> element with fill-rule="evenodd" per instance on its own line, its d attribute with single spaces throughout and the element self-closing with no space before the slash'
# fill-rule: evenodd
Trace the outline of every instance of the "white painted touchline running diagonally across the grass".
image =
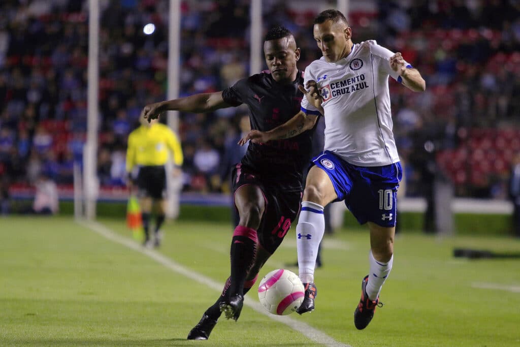
<svg viewBox="0 0 520 347">
<path fill-rule="evenodd" d="M 134 242 L 132 239 L 123 237 L 119 234 L 116 234 L 106 226 L 97 223 L 97 222 L 89 222 L 85 220 L 76 220 L 76 223 L 82 225 L 83 227 L 93 230 L 94 232 L 98 233 L 99 235 L 113 241 L 116 243 L 119 243 L 120 245 L 126 246 L 130 249 L 133 249 L 134 251 L 140 252 L 142 254 L 147 255 L 149 258 L 155 260 L 156 262 L 160 263 L 161 265 L 164 265 L 166 268 L 171 269 L 172 271 L 181 274 L 183 276 L 186 276 L 194 281 L 199 282 L 200 284 L 203 284 L 207 287 L 210 287 L 216 291 L 222 291 L 223 285 L 216 282 L 215 280 L 206 277 L 204 275 L 201 275 L 199 273 L 196 273 L 194 271 L 191 271 L 189 268 L 184 267 L 183 265 L 180 265 L 173 261 L 172 259 L 168 258 L 167 256 L 162 255 L 161 253 L 154 251 L 152 249 L 144 248 L 140 245 L 138 245 L 136 242 Z M 247 305 L 251 307 L 254 311 L 263 314 L 264 316 L 267 316 L 271 319 L 276 320 L 279 323 L 283 323 L 293 330 L 296 330 L 300 332 L 303 336 L 307 337 L 310 340 L 313 340 L 317 343 L 321 343 L 326 346 L 330 347 L 352 347 L 348 344 L 344 344 L 341 342 L 338 342 L 334 340 L 332 337 L 328 336 L 326 333 L 315 329 L 308 324 L 305 324 L 303 322 L 298 322 L 295 319 L 289 318 L 288 316 L 275 316 L 271 315 L 268 312 L 265 311 L 264 307 L 259 303 L 254 301 L 253 299 L 249 297 L 245 297 L 244 305 Z"/>
</svg>

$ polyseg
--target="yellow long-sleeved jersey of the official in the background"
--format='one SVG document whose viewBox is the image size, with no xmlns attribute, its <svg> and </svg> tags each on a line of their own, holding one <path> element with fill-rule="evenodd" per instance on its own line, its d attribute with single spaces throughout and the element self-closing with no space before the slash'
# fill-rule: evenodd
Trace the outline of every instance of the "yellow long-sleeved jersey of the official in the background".
<svg viewBox="0 0 520 347">
<path fill-rule="evenodd" d="M 164 165 L 172 155 L 175 165 L 183 164 L 183 151 L 174 132 L 164 124 L 141 125 L 128 135 L 126 172 L 135 165 Z"/>
</svg>

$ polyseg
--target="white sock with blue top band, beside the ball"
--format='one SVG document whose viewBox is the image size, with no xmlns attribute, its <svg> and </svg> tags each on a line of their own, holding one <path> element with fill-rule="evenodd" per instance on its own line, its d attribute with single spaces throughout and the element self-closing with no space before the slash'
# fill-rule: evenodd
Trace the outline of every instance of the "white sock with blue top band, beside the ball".
<svg viewBox="0 0 520 347">
<path fill-rule="evenodd" d="M 304 283 L 314 282 L 318 247 L 324 233 L 323 206 L 303 201 L 300 219 L 296 225 L 296 247 L 298 250 L 298 277 Z"/>
</svg>

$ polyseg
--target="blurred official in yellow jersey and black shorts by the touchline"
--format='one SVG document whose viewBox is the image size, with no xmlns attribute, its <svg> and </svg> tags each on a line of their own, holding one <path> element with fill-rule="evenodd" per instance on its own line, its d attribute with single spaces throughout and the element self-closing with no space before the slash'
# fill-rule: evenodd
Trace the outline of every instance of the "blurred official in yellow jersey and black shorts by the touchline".
<svg viewBox="0 0 520 347">
<path fill-rule="evenodd" d="M 164 223 L 166 207 L 165 164 L 171 158 L 175 164 L 173 174 L 179 176 L 183 164 L 183 151 L 174 132 L 158 120 L 148 122 L 140 117 L 141 125 L 128 135 L 126 151 L 127 185 L 131 193 L 137 188 L 137 198 L 145 230 L 146 247 L 159 247 L 160 229 Z M 136 170 L 135 170 L 136 169 Z M 153 243 L 150 239 L 150 217 L 153 202 L 159 202 L 155 213 Z"/>
</svg>

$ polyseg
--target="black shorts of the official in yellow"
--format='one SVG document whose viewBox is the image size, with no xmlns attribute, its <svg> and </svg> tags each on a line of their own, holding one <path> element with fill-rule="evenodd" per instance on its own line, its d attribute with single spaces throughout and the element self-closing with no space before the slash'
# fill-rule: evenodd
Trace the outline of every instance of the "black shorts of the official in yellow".
<svg viewBox="0 0 520 347">
<path fill-rule="evenodd" d="M 166 197 L 166 170 L 164 165 L 140 166 L 136 179 L 139 198 L 163 199 Z"/>
</svg>

